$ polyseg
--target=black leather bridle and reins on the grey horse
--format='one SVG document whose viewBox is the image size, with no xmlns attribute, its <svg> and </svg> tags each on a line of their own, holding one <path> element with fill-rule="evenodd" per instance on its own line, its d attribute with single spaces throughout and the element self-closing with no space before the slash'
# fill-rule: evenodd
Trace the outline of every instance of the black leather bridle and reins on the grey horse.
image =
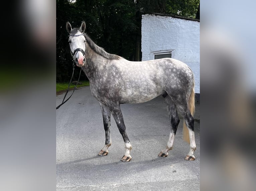
<svg viewBox="0 0 256 191">
<path fill-rule="evenodd" d="M 70 37 L 70 36 L 75 36 L 75 37 L 77 37 L 77 36 L 81 36 L 81 35 L 84 35 L 84 34 L 80 34 L 80 35 L 69 35 L 69 37 Z M 70 45 L 69 45 L 69 46 L 70 46 Z M 69 48 L 70 48 L 70 47 L 69 47 Z M 79 79 L 80 79 L 82 67 L 81 67 L 81 70 L 80 70 L 80 73 L 79 73 L 79 78 L 78 78 L 77 84 L 76 84 L 76 86 L 74 87 L 74 90 L 73 90 L 72 94 L 69 96 L 69 98 L 67 98 L 67 99 L 65 100 L 65 98 L 66 98 L 66 96 L 67 96 L 67 94 L 68 94 L 68 92 L 69 92 L 69 87 L 70 87 L 71 81 L 72 81 L 73 76 L 74 76 L 74 71 L 75 71 L 75 64 L 74 64 L 74 62 L 75 62 L 75 57 L 76 57 L 76 54 L 77 54 L 78 51 L 81 51 L 82 54 L 85 56 L 85 51 L 84 51 L 83 49 L 81 49 L 81 48 L 75 49 L 75 50 L 74 50 L 74 53 L 72 53 L 72 52 L 71 52 L 71 49 L 70 49 L 70 53 L 71 53 L 71 56 L 72 56 L 72 58 L 73 58 L 73 72 L 72 72 L 72 76 L 71 76 L 71 79 L 70 79 L 70 82 L 69 82 L 68 90 L 67 90 L 67 92 L 66 92 L 66 94 L 65 94 L 65 96 L 64 96 L 64 98 L 63 98 L 63 100 L 62 100 L 62 102 L 61 102 L 61 104 L 59 104 L 59 105 L 56 107 L 56 109 L 58 109 L 61 105 L 63 105 L 64 103 L 66 103 L 66 102 L 70 99 L 70 97 L 74 94 L 75 90 L 77 89 L 77 84 L 79 83 Z M 65 101 L 64 101 L 64 100 L 65 100 Z"/>
</svg>

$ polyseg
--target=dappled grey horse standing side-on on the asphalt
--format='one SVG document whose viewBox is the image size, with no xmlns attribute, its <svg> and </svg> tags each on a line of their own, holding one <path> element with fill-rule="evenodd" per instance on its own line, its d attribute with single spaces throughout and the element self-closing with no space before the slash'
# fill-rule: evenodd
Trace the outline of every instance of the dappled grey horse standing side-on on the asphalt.
<svg viewBox="0 0 256 191">
<path fill-rule="evenodd" d="M 189 143 L 189 152 L 185 160 L 195 160 L 196 150 L 194 133 L 195 81 L 191 69 L 181 61 L 163 58 L 142 62 L 128 61 L 120 56 L 109 54 L 97 46 L 85 33 L 83 21 L 79 28 L 66 23 L 69 33 L 69 46 L 73 60 L 90 81 L 92 95 L 99 101 L 105 129 L 105 145 L 98 155 L 106 156 L 111 145 L 111 114 L 121 133 L 125 154 L 121 161 L 129 162 L 132 157 L 131 142 L 126 134 L 120 104 L 142 103 L 162 95 L 167 104 L 170 120 L 170 134 L 167 145 L 158 154 L 167 157 L 173 147 L 173 141 L 179 124 L 177 109 L 183 122 L 183 139 Z"/>
</svg>

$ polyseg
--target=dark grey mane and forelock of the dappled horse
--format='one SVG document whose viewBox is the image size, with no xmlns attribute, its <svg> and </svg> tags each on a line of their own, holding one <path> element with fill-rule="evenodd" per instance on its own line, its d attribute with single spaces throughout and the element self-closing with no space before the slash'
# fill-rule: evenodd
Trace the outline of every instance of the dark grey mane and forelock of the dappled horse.
<svg viewBox="0 0 256 191">
<path fill-rule="evenodd" d="M 77 32 L 79 31 L 78 28 L 74 28 L 72 29 L 70 35 L 75 35 L 77 34 Z M 119 60 L 121 59 L 122 57 L 118 56 L 118 55 L 115 55 L 115 54 L 109 54 L 107 53 L 103 48 L 99 47 L 98 45 L 96 45 L 92 39 L 90 39 L 90 37 L 86 34 L 86 33 L 83 33 L 84 36 L 85 36 L 85 39 L 87 41 L 87 43 L 89 44 L 89 46 L 91 47 L 91 49 L 96 52 L 97 54 L 107 58 L 107 59 L 111 59 L 111 60 Z"/>
</svg>

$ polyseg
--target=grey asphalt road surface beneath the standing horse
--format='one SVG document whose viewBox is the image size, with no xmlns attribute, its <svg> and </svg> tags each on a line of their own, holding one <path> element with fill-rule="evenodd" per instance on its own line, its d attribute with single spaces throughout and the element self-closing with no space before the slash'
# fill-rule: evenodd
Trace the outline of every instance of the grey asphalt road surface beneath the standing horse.
<svg viewBox="0 0 256 191">
<path fill-rule="evenodd" d="M 64 94 L 56 96 L 56 106 Z M 98 156 L 105 144 L 105 131 L 98 101 L 90 87 L 76 90 L 56 110 L 56 190 L 200 190 L 200 123 L 195 122 L 196 160 L 186 161 L 188 143 L 182 140 L 182 123 L 168 157 L 165 148 L 169 117 L 159 96 L 140 104 L 121 105 L 126 132 L 133 146 L 130 162 L 120 161 L 124 142 L 111 116 L 112 145 L 107 156 Z M 200 119 L 200 105 L 195 118 Z"/>
</svg>

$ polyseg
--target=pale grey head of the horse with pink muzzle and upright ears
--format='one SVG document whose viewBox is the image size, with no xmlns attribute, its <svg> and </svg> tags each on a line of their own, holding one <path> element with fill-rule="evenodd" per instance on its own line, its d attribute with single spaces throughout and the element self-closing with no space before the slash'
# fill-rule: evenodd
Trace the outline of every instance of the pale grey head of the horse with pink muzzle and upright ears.
<svg viewBox="0 0 256 191">
<path fill-rule="evenodd" d="M 77 66 L 82 67 L 85 64 L 85 22 L 83 21 L 81 27 L 72 29 L 69 22 L 66 23 L 66 29 L 69 32 L 69 46 L 71 55 Z"/>
</svg>

